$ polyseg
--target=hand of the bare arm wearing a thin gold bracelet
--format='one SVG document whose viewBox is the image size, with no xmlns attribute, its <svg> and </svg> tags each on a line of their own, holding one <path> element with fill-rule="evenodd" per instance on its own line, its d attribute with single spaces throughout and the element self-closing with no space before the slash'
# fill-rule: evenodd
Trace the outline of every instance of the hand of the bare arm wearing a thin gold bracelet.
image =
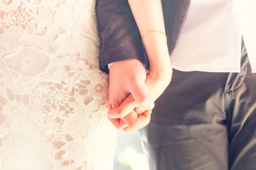
<svg viewBox="0 0 256 170">
<path fill-rule="evenodd" d="M 146 77 L 146 86 L 149 89 L 149 94 L 151 98 L 156 100 L 163 92 L 164 89 L 169 85 L 171 81 L 172 69 L 171 67 L 166 67 L 166 72 L 164 74 L 159 74 L 159 72 L 154 72 L 151 70 Z M 108 113 L 109 118 L 122 118 L 122 126 L 117 124 L 117 122 L 112 122 L 113 125 L 118 129 L 123 129 L 124 131 L 133 131 L 143 128 L 149 124 L 151 118 L 151 111 L 146 110 L 139 106 L 132 96 L 128 96 L 121 106 L 117 108 L 111 108 Z"/>
</svg>

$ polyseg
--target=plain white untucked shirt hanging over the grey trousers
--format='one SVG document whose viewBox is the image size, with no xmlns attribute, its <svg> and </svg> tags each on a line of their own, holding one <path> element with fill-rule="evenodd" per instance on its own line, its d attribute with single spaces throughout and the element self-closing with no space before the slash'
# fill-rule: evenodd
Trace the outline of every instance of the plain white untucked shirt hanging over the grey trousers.
<svg viewBox="0 0 256 170">
<path fill-rule="evenodd" d="M 191 0 L 171 64 L 181 71 L 240 72 L 241 40 L 256 72 L 255 0 Z M 254 20 L 253 20 L 254 19 Z"/>
</svg>

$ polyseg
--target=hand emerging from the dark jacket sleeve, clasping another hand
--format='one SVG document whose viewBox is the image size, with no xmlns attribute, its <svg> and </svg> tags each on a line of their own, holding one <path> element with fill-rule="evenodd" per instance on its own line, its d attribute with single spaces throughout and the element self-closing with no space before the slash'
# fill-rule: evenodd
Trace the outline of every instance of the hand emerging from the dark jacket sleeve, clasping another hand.
<svg viewBox="0 0 256 170">
<path fill-rule="evenodd" d="M 110 66 L 110 106 L 120 106 L 130 94 L 134 101 L 146 110 L 154 108 L 146 84 L 146 69 L 139 60 L 123 60 Z M 111 119 L 112 124 L 120 129 L 126 125 L 121 119 Z"/>
</svg>

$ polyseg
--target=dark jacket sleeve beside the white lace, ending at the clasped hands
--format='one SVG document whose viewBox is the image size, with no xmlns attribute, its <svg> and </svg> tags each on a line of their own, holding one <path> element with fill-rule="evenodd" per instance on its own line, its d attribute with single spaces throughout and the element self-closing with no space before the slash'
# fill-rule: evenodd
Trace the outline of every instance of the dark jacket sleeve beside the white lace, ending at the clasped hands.
<svg viewBox="0 0 256 170">
<path fill-rule="evenodd" d="M 100 67 L 137 59 L 145 63 L 144 47 L 139 29 L 127 0 L 96 0 L 98 32 L 101 40 Z"/>
</svg>

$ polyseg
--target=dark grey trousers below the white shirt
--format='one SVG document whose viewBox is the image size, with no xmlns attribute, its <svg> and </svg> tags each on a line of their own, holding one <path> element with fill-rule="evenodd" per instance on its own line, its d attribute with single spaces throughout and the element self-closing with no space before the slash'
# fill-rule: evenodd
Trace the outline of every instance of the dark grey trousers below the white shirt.
<svg viewBox="0 0 256 170">
<path fill-rule="evenodd" d="M 151 170 L 256 169 L 256 74 L 179 72 L 140 130 Z"/>
</svg>

